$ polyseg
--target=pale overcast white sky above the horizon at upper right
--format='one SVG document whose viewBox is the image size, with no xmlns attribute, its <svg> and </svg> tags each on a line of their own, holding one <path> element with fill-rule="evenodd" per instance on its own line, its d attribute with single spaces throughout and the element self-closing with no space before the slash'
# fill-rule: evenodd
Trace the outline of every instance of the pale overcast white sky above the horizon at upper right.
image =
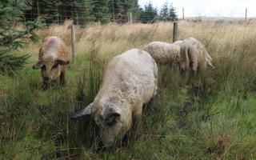
<svg viewBox="0 0 256 160">
<path fill-rule="evenodd" d="M 150 0 L 138 0 L 144 6 Z M 151 0 L 154 6 L 160 10 L 164 2 L 173 3 L 179 16 L 182 16 L 182 8 L 185 16 L 209 16 L 209 17 L 245 17 L 246 8 L 248 17 L 256 17 L 256 0 Z"/>
</svg>

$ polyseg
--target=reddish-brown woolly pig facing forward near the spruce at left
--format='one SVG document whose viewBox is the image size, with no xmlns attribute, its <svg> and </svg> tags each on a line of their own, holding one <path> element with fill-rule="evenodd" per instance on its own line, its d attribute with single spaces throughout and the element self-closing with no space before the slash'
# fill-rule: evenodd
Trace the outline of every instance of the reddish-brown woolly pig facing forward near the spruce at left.
<svg viewBox="0 0 256 160">
<path fill-rule="evenodd" d="M 66 65 L 69 64 L 66 45 L 61 38 L 49 37 L 44 40 L 39 50 L 39 60 L 34 69 L 40 69 L 44 86 L 60 77 L 60 83 L 65 82 Z"/>
</svg>

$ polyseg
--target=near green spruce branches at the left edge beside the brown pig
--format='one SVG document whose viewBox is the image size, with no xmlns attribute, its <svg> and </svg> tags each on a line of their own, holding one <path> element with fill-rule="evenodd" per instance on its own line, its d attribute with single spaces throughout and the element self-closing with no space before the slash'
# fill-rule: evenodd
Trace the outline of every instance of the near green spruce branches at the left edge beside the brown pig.
<svg viewBox="0 0 256 160">
<path fill-rule="evenodd" d="M 30 56 L 15 56 L 14 52 L 27 40 L 38 40 L 34 30 L 41 27 L 42 22 L 39 18 L 24 22 L 24 10 L 30 10 L 26 1 L 2 0 L 0 4 L 0 73 L 12 73 L 22 67 Z"/>
</svg>

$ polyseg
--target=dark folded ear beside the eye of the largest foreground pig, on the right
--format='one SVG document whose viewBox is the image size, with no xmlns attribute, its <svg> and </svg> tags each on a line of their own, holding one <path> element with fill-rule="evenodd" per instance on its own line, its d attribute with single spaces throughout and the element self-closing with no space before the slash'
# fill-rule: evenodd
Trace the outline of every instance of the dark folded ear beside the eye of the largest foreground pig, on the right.
<svg viewBox="0 0 256 160">
<path fill-rule="evenodd" d="M 101 113 L 101 118 L 106 120 L 111 116 L 120 116 L 120 115 L 121 115 L 121 109 L 114 104 L 110 104 L 109 106 L 106 106 L 105 108 L 103 108 Z"/>
</svg>

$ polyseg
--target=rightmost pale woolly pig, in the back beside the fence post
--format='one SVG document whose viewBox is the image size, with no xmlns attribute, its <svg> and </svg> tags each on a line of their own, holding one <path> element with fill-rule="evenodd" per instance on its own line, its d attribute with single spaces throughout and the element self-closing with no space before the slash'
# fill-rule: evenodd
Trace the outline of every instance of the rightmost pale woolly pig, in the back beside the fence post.
<svg viewBox="0 0 256 160">
<path fill-rule="evenodd" d="M 183 71 L 188 70 L 190 67 L 193 71 L 198 70 L 198 67 L 201 69 L 206 69 L 206 66 L 214 68 L 213 60 L 205 46 L 197 39 L 186 38 L 184 41 L 174 42 L 174 44 L 181 47 L 180 67 Z"/>
</svg>

